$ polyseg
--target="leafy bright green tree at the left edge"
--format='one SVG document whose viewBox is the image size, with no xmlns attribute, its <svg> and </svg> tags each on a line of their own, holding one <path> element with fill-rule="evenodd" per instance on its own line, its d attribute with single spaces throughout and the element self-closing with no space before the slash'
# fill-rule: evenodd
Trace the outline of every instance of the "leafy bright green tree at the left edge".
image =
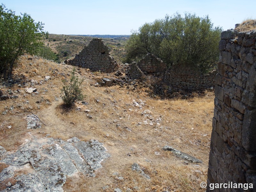
<svg viewBox="0 0 256 192">
<path fill-rule="evenodd" d="M 0 73 L 4 79 L 12 79 L 12 69 L 20 55 L 38 51 L 42 31 L 42 22 L 35 23 L 27 13 L 15 15 L 0 5 Z"/>
</svg>

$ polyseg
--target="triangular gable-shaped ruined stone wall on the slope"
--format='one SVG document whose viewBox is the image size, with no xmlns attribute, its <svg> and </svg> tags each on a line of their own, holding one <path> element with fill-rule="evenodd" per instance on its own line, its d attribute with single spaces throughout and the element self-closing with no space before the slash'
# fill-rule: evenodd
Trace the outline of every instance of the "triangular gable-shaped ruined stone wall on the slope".
<svg viewBox="0 0 256 192">
<path fill-rule="evenodd" d="M 117 63 L 109 55 L 108 46 L 104 45 L 102 39 L 93 38 L 88 46 L 84 46 L 84 49 L 68 62 L 92 71 L 114 72 Z"/>
</svg>

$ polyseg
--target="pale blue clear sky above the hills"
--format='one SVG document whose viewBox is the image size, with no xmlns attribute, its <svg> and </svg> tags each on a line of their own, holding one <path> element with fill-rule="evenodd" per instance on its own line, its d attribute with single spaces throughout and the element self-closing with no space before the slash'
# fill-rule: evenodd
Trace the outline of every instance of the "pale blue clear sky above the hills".
<svg viewBox="0 0 256 192">
<path fill-rule="evenodd" d="M 146 22 L 176 12 L 209 16 L 214 27 L 235 28 L 256 19 L 255 0 L 2 0 L 16 15 L 28 13 L 44 31 L 65 35 L 130 35 Z"/>
</svg>

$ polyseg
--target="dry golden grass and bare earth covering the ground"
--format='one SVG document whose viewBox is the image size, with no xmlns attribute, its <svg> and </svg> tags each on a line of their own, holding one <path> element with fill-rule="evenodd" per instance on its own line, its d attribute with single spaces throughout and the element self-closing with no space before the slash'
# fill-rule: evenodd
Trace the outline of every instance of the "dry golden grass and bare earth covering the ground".
<svg viewBox="0 0 256 192">
<path fill-rule="evenodd" d="M 97 139 L 104 143 L 110 158 L 102 162 L 102 168 L 96 171 L 96 177 L 76 174 L 68 177 L 63 186 L 64 191 L 114 191 L 120 188 L 139 187 L 139 191 L 204 191 L 200 183 L 207 180 L 208 156 L 210 150 L 211 125 L 213 116 L 213 92 L 205 92 L 201 97 L 188 100 L 160 100 L 150 98 L 148 90 L 141 88 L 129 90 L 119 85 L 112 87 L 95 87 L 96 78 L 107 74 L 91 73 L 77 68 L 77 75 L 85 78 L 82 84 L 86 95 L 76 108 L 64 109 L 60 98 L 63 86 L 61 80 L 69 79 L 72 66 L 56 64 L 51 61 L 30 56 L 23 56 L 14 70 L 14 78 L 21 78 L 18 99 L 0 101 L 0 145 L 6 150 L 15 150 L 25 139 L 32 136 L 61 138 L 67 140 L 78 137 L 80 140 Z M 51 76 L 49 81 L 36 84 L 39 94 L 28 94 L 31 80 L 38 83 L 44 76 Z M 111 76 L 111 74 L 108 74 Z M 1 87 L 2 90 L 9 88 Z M 98 100 L 98 101 L 97 101 Z M 142 109 L 133 105 L 145 101 Z M 140 101 L 141 100 L 141 101 Z M 11 109 L 12 108 L 12 109 Z M 6 115 L 4 112 L 8 109 Z M 88 118 L 85 109 L 91 110 Z M 23 117 L 36 114 L 42 122 L 40 129 L 27 130 Z M 144 125 L 144 121 L 153 125 Z M 141 122 L 141 124 L 140 124 Z M 157 122 L 159 124 L 157 124 Z M 182 122 L 182 123 L 180 123 Z M 170 145 L 203 161 L 203 164 L 186 163 L 171 152 L 163 151 Z M 146 180 L 132 171 L 133 163 L 138 163 L 151 180 Z M 112 176 L 118 172 L 124 180 Z"/>
</svg>

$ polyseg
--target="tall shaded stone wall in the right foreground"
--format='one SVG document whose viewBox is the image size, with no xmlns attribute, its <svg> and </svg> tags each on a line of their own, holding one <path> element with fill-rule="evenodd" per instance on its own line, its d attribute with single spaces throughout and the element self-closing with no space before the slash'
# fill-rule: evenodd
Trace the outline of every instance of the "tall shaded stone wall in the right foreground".
<svg viewBox="0 0 256 192">
<path fill-rule="evenodd" d="M 207 192 L 210 183 L 256 188 L 256 31 L 224 31 L 219 43 Z"/>
</svg>

